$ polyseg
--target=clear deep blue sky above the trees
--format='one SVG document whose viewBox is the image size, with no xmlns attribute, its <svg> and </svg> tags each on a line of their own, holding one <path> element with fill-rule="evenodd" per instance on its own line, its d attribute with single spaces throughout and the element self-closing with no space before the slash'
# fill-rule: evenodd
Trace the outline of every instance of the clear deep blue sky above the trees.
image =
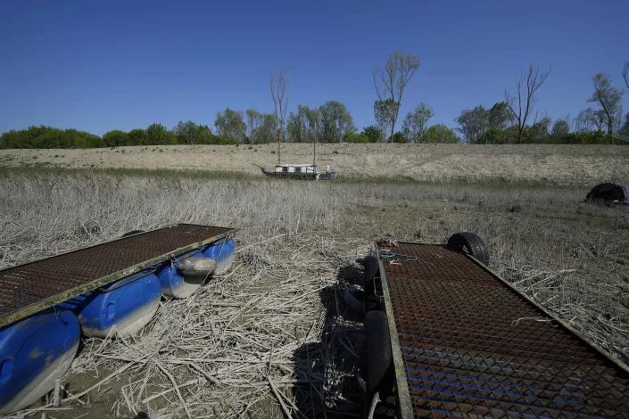
<svg viewBox="0 0 629 419">
<path fill-rule="evenodd" d="M 371 69 L 399 49 L 421 67 L 402 103 L 456 124 L 491 106 L 529 63 L 552 66 L 535 110 L 574 117 L 592 76 L 624 86 L 629 1 L 0 2 L 0 132 L 29 125 L 103 134 L 179 120 L 213 126 L 230 107 L 271 111 L 271 70 L 289 107 L 337 100 L 373 123 Z M 629 111 L 629 94 L 624 98 Z"/>
</svg>

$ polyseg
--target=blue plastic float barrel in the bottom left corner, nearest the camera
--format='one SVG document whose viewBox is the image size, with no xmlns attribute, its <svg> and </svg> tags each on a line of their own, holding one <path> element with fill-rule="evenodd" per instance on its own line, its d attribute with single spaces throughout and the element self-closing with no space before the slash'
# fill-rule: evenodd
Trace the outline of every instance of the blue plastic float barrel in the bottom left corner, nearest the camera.
<svg viewBox="0 0 629 419">
<path fill-rule="evenodd" d="M 54 389 L 79 347 L 77 317 L 47 309 L 0 329 L 0 415 L 29 407 Z"/>
</svg>

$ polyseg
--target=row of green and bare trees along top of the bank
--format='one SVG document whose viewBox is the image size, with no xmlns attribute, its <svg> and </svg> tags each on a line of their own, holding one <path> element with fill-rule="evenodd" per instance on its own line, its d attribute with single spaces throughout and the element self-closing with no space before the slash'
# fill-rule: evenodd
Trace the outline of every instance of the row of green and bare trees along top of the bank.
<svg viewBox="0 0 629 419">
<path fill-rule="evenodd" d="M 468 144 L 614 144 L 629 136 L 629 112 L 623 115 L 623 88 L 613 86 L 607 74 L 592 78 L 593 92 L 587 107 L 574 118 L 552 120 L 534 115 L 537 94 L 551 70 L 530 65 L 517 79 L 515 89 L 505 90 L 501 102 L 490 108 L 478 105 L 465 109 L 454 119 L 456 131 L 443 124 L 429 126 L 435 111 L 418 103 L 402 119 L 396 130 L 402 98 L 411 78 L 419 69 L 418 55 L 392 53 L 382 68 L 372 71 L 376 100 L 375 124 L 360 132 L 347 107 L 328 101 L 318 107 L 298 104 L 287 113 L 288 74 L 285 69 L 271 73 L 269 87 L 273 111 L 226 108 L 214 119 L 214 129 L 191 120 L 168 129 L 154 123 L 145 129 L 114 129 L 96 136 L 76 129 L 29 127 L 0 136 L 0 148 L 90 148 L 123 145 L 166 144 L 267 144 L 294 143 L 468 143 Z M 622 71 L 629 89 L 629 62 Z M 533 119 L 533 121 L 532 121 Z"/>
</svg>

